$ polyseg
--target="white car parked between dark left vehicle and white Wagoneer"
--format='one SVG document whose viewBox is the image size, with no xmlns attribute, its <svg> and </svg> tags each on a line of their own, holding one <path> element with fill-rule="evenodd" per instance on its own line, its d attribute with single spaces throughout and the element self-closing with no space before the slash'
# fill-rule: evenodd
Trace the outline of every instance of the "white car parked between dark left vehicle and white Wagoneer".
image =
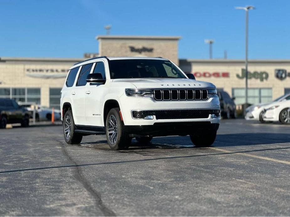
<svg viewBox="0 0 290 217">
<path fill-rule="evenodd" d="M 30 118 L 33 118 L 33 110 L 35 106 L 35 119 L 37 121 L 46 121 L 46 120 L 51 120 L 51 114 L 52 114 L 52 109 L 37 105 L 34 103 L 19 103 L 21 106 L 25 107 L 29 111 L 29 116 Z M 54 109 L 54 119 L 55 120 L 60 120 L 61 119 L 61 110 L 59 109 Z"/>
</svg>

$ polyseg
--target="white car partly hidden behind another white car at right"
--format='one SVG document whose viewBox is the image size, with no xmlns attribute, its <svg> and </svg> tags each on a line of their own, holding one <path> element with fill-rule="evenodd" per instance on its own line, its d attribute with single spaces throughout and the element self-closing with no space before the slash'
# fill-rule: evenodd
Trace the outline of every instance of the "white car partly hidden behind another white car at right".
<svg viewBox="0 0 290 217">
<path fill-rule="evenodd" d="M 290 93 L 287 93 L 277 99 L 275 99 L 272 103 L 278 103 L 278 102 L 283 102 L 290 100 Z M 260 121 L 261 123 L 265 122 L 263 119 L 265 109 L 269 108 L 269 105 L 272 103 L 261 103 L 261 104 L 256 104 L 248 107 L 246 109 L 246 115 L 245 119 L 246 120 L 257 120 Z"/>
</svg>

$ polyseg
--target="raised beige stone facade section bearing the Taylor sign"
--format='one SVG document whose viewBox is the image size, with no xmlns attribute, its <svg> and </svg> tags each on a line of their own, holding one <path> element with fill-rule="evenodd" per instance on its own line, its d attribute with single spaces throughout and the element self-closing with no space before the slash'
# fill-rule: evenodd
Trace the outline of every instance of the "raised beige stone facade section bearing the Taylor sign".
<svg viewBox="0 0 290 217">
<path fill-rule="evenodd" d="M 178 63 L 178 40 L 163 36 L 98 36 L 99 55 L 108 57 L 163 57 Z"/>
</svg>

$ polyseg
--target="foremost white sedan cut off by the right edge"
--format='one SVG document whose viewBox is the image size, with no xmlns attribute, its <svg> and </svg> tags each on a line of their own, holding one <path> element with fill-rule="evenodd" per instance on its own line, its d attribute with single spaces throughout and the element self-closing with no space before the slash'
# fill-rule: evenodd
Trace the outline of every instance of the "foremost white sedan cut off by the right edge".
<svg viewBox="0 0 290 217">
<path fill-rule="evenodd" d="M 289 111 L 288 111 L 289 110 Z M 274 102 L 268 105 L 263 114 L 264 121 L 280 121 L 282 124 L 290 124 L 290 100 Z"/>
</svg>

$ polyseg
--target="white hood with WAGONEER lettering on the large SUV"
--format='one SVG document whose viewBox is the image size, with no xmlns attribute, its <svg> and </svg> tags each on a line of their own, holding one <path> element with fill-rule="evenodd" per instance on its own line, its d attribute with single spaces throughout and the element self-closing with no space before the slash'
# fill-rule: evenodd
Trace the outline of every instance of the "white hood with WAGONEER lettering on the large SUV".
<svg viewBox="0 0 290 217">
<path fill-rule="evenodd" d="M 212 83 L 187 78 L 125 78 L 113 82 L 128 82 L 136 88 L 215 88 Z"/>
</svg>

